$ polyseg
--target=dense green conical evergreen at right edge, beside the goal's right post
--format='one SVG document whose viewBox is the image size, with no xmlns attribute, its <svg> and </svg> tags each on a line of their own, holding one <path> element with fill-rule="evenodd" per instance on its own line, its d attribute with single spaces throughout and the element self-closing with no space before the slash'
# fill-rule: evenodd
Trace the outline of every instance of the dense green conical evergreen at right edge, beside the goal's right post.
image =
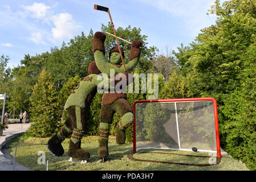
<svg viewBox="0 0 256 182">
<path fill-rule="evenodd" d="M 243 78 L 241 87 L 225 98 L 225 105 L 221 106 L 225 117 L 225 125 L 221 128 L 225 138 L 225 149 L 235 158 L 246 162 L 247 166 L 253 170 L 256 170 L 255 48 L 256 43 L 248 48 L 243 57 L 245 69 L 240 75 Z"/>
</svg>

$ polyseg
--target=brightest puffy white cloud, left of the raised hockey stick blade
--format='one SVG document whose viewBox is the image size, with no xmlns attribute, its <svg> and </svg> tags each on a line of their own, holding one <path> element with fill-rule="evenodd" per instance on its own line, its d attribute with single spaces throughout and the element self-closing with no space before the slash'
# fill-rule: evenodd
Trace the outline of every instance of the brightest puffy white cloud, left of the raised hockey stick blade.
<svg viewBox="0 0 256 182">
<path fill-rule="evenodd" d="M 51 17 L 52 23 L 55 27 L 51 29 L 52 36 L 54 39 L 66 40 L 72 38 L 81 26 L 76 23 L 71 14 L 61 13 Z"/>
</svg>

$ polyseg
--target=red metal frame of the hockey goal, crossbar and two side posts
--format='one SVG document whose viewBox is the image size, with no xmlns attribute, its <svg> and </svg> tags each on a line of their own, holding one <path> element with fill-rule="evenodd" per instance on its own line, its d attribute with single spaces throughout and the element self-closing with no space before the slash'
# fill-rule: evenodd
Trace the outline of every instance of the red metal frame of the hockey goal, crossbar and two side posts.
<svg viewBox="0 0 256 182">
<path fill-rule="evenodd" d="M 136 152 L 136 104 L 145 102 L 180 102 L 180 101 L 213 101 L 214 108 L 214 121 L 216 130 L 216 147 L 217 157 L 221 158 L 221 146 L 220 146 L 220 133 L 218 127 L 218 111 L 217 101 L 213 97 L 202 97 L 202 98 L 174 98 L 174 99 L 160 99 L 160 100 L 137 100 L 133 102 L 134 121 L 133 121 L 133 152 Z"/>
</svg>

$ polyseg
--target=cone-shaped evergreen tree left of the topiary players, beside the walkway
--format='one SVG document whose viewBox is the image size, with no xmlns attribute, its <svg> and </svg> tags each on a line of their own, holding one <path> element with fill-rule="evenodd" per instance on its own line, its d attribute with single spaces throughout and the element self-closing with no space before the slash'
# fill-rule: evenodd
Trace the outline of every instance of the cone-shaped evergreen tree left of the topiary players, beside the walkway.
<svg viewBox="0 0 256 182">
<path fill-rule="evenodd" d="M 29 114 L 32 123 L 29 135 L 34 137 L 51 137 L 60 129 L 58 118 L 58 94 L 50 73 L 44 69 L 36 82 L 32 96 Z"/>
</svg>

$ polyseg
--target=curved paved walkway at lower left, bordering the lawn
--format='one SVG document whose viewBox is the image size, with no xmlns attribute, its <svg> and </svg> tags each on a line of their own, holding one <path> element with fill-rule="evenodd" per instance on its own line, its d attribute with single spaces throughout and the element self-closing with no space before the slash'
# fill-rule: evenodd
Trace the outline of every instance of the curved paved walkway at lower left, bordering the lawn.
<svg viewBox="0 0 256 182">
<path fill-rule="evenodd" d="M 9 150 L 2 148 L 11 139 L 21 135 L 29 129 L 31 123 L 26 124 L 9 124 L 9 128 L 3 131 L 3 135 L 0 136 L 0 171 L 13 170 L 13 157 L 9 154 Z M 15 162 L 15 171 L 27 171 L 29 168 L 22 166 Z"/>
</svg>

